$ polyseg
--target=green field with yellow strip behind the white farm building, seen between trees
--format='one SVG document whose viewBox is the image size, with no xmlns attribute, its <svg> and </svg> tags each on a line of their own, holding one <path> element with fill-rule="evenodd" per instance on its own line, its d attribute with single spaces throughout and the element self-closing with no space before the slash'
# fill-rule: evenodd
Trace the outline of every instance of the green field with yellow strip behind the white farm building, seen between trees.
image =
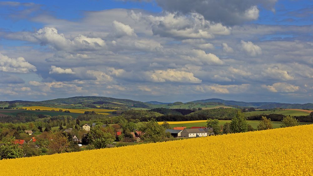
<svg viewBox="0 0 313 176">
<path fill-rule="evenodd" d="M 219 125 L 224 125 L 225 123 L 230 123 L 230 120 L 219 120 Z M 253 128 L 257 128 L 260 121 L 259 120 L 247 120 L 248 124 L 251 125 Z M 162 124 L 163 122 L 158 122 L 159 124 Z M 194 120 L 194 121 L 180 121 L 180 122 L 167 122 L 170 124 L 170 126 L 173 127 L 205 127 L 207 126 L 207 120 Z M 280 128 L 281 122 L 275 122 L 273 121 L 273 128 Z M 300 122 L 301 125 L 305 124 L 312 124 L 312 123 L 305 123 Z"/>
</svg>

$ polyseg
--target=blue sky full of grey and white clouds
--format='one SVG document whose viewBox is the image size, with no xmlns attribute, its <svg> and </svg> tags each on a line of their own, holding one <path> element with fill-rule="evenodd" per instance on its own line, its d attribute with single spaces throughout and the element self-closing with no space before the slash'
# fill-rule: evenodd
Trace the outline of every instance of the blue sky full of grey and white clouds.
<svg viewBox="0 0 313 176">
<path fill-rule="evenodd" d="M 0 1 L 0 100 L 313 103 L 312 0 Z"/>
</svg>

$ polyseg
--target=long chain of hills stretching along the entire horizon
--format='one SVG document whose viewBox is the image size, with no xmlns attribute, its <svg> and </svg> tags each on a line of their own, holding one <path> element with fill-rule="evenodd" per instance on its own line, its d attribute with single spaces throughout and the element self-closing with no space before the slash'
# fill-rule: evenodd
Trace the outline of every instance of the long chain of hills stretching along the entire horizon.
<svg viewBox="0 0 313 176">
<path fill-rule="evenodd" d="M 111 104 L 122 104 L 128 107 L 136 107 L 136 108 L 169 108 L 169 109 L 191 109 L 191 108 L 220 108 L 223 106 L 224 108 L 244 108 L 244 107 L 254 107 L 259 109 L 274 109 L 274 108 L 282 108 L 282 109 L 313 109 L 313 103 L 305 103 L 305 104 L 290 104 L 290 103 L 276 103 L 276 102 L 242 102 L 242 101 L 233 101 L 233 100 L 223 100 L 219 98 L 210 98 L 203 100 L 195 100 L 191 102 L 186 102 L 179 105 L 173 105 L 173 103 L 163 103 L 157 101 L 149 101 L 149 102 L 141 102 L 134 101 L 130 99 L 120 99 L 120 98 L 111 98 L 111 97 L 95 97 L 95 96 L 86 96 L 86 97 L 70 97 L 70 98 L 57 98 L 52 100 L 44 100 L 38 102 L 32 101 L 23 101 L 23 100 L 14 100 L 14 101 L 6 101 L 3 103 L 19 103 L 22 105 L 30 105 L 30 106 L 42 106 L 45 104 L 81 104 L 81 103 L 91 103 L 97 104 L 96 102 L 107 102 Z M 1 103 L 1 102 L 0 102 Z M 219 105 L 219 106 L 218 106 Z"/>
</svg>

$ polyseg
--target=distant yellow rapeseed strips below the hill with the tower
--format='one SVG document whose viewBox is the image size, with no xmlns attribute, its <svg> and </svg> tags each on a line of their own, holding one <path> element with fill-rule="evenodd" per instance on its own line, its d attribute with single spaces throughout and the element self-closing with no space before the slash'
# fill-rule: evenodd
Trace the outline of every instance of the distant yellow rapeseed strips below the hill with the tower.
<svg viewBox="0 0 313 176">
<path fill-rule="evenodd" d="M 63 111 L 68 110 L 71 113 L 80 113 L 83 114 L 85 111 L 95 111 L 98 114 L 104 114 L 108 115 L 109 113 L 106 112 L 112 112 L 115 110 L 110 110 L 110 109 L 64 109 L 64 108 L 51 108 L 51 107 L 45 107 L 45 106 L 27 106 L 27 107 L 22 107 L 26 108 L 27 110 L 35 110 L 35 109 L 40 109 L 40 110 L 47 110 L 47 111 L 59 111 L 59 109 L 62 109 Z"/>
</svg>

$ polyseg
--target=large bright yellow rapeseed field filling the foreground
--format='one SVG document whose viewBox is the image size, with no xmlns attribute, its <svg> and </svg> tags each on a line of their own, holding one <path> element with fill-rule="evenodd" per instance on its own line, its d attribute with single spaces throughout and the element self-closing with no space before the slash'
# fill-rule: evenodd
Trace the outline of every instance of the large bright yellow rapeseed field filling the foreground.
<svg viewBox="0 0 313 176">
<path fill-rule="evenodd" d="M 0 161 L 1 175 L 313 175 L 313 125 Z"/>
</svg>

